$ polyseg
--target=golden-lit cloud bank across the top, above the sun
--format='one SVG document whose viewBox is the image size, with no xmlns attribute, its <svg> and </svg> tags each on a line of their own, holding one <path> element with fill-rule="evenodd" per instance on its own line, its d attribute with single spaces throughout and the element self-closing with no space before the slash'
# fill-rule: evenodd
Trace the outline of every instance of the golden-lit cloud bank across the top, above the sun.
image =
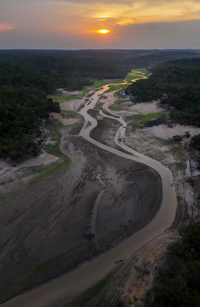
<svg viewBox="0 0 200 307">
<path fill-rule="evenodd" d="M 200 19 L 199 0 L 48 0 L 70 9 L 70 14 L 112 25 Z M 124 17 L 126 16 L 126 17 Z"/>
</svg>

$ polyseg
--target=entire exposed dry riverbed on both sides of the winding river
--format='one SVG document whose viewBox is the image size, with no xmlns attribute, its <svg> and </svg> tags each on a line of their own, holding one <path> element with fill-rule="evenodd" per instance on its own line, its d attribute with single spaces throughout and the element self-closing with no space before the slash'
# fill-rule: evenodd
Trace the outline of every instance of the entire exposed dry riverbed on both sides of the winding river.
<svg viewBox="0 0 200 307">
<path fill-rule="evenodd" d="M 98 110 L 89 110 L 98 121 L 90 137 L 123 150 L 114 142 L 120 127 L 117 118 L 122 117 L 128 124 L 122 139 L 127 146 L 172 165 L 178 196 L 177 216 L 169 229 L 128 257 L 93 289 L 69 303 L 70 307 L 108 305 L 111 301 L 115 304 L 119 299 L 128 306 L 134 297 L 143 299 L 157 274 L 156 267 L 166 245 L 177 237 L 180 227 L 198 219 L 197 196 L 186 182 L 187 177 L 199 174 L 187 146 L 191 137 L 177 143 L 172 136 L 185 131 L 190 131 L 192 136 L 200 133 L 200 129 L 179 125 L 171 128 L 135 126 L 133 129 L 133 119 L 127 116 L 159 114 L 166 110 L 158 101 L 133 104 L 128 97 L 117 105 L 119 110 L 110 108 L 115 100 L 113 92 L 106 93 L 99 96 L 96 107 L 116 119 L 107 118 Z M 0 239 L 5 240 L 0 245 L 1 301 L 109 250 L 149 223 L 159 209 L 161 181 L 153 169 L 102 150 L 79 136 L 84 122 L 74 111 L 91 101 L 92 97 L 64 101 L 61 103 L 63 113 L 52 114 L 50 121 L 43 123 L 43 152 L 23 162 L 30 164 L 25 178 L 21 176 L 25 171 L 22 162 L 17 166 L 21 168 L 20 180 L 11 177 L 13 181 L 5 184 L 16 167 L 9 164 L 10 161 L 2 172 Z M 60 137 L 60 149 L 55 150 Z M 49 172 L 48 176 L 36 176 L 35 165 L 38 171 L 46 167 L 37 159 L 43 161 L 49 156 L 55 160 L 50 161 L 50 165 L 62 167 Z M 64 158 L 66 156 L 70 162 Z M 10 173 L 5 180 L 6 172 Z M 69 297 L 58 299 L 48 306 L 64 306 L 68 300 Z M 142 300 L 140 302 L 143 304 Z"/>
</svg>

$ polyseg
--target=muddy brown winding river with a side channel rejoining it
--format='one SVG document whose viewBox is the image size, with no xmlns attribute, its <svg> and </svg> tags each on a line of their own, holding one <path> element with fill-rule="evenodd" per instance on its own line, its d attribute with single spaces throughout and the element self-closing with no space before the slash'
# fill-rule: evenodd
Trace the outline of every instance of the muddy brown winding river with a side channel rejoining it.
<svg viewBox="0 0 200 307">
<path fill-rule="evenodd" d="M 90 97 L 91 103 L 89 105 L 86 104 L 85 107 L 79 112 L 85 119 L 85 124 L 80 132 L 80 136 L 103 150 L 146 164 L 158 172 L 162 180 L 163 197 L 161 207 L 149 224 L 136 232 L 130 238 L 125 239 L 122 243 L 119 243 L 116 247 L 111 248 L 106 253 L 103 253 L 102 255 L 86 263 L 83 263 L 82 265 L 78 266 L 78 268 L 62 275 L 59 278 L 56 278 L 22 295 L 14 297 L 5 304 L 2 304 L 2 306 L 44 307 L 49 306 L 51 303 L 62 298 L 67 297 L 69 300 L 73 299 L 101 280 L 107 272 L 116 266 L 116 260 L 126 259 L 129 257 L 145 243 L 150 241 L 162 231 L 166 230 L 174 221 L 177 198 L 174 187 L 170 187 L 170 184 L 172 183 L 172 173 L 170 173 L 170 170 L 160 162 L 130 149 L 123 143 L 123 140 L 122 142 L 118 142 L 118 138 L 123 138 L 126 130 L 126 123 L 121 118 L 113 118 L 112 116 L 105 115 L 102 113 L 102 111 L 99 111 L 100 115 L 113 118 L 115 120 L 117 119 L 122 124 L 116 134 L 115 143 L 130 154 L 99 143 L 90 137 L 90 131 L 97 126 L 97 120 L 90 116 L 87 111 L 95 107 L 99 98 L 98 96 L 104 91 L 108 90 L 110 85 L 111 84 L 107 84 L 103 86 L 101 90 L 95 92 L 94 95 Z M 88 126 L 88 122 L 91 123 L 90 126 Z M 59 305 L 55 304 L 55 306 Z"/>
</svg>

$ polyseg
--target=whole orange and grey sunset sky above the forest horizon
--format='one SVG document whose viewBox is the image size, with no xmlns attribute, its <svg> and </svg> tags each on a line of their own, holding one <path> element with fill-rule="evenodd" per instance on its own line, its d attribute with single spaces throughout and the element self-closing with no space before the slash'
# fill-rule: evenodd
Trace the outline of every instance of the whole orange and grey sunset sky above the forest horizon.
<svg viewBox="0 0 200 307">
<path fill-rule="evenodd" d="M 200 0 L 1 0 L 0 49 L 15 48 L 200 48 Z"/>
</svg>

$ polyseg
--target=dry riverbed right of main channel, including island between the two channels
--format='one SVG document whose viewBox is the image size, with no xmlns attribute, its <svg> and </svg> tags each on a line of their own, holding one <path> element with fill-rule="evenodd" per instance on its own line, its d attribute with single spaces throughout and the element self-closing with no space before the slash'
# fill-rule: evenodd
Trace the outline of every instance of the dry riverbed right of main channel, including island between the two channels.
<svg viewBox="0 0 200 307">
<path fill-rule="evenodd" d="M 198 203 L 198 176 L 200 172 L 196 169 L 195 157 L 197 154 L 189 147 L 190 139 L 193 135 L 199 134 L 200 129 L 192 126 L 180 125 L 159 125 L 153 127 L 140 127 L 133 129 L 133 119 L 127 119 L 132 114 L 149 114 L 163 113 L 165 110 L 160 107 L 158 101 L 152 103 L 133 104 L 128 99 L 120 104 L 121 110 L 110 109 L 109 106 L 114 99 L 106 99 L 102 96 L 98 100 L 104 114 L 112 114 L 115 117 L 121 116 L 128 124 L 123 142 L 143 153 L 150 156 L 164 165 L 170 164 L 173 167 L 174 184 L 178 197 L 178 208 L 176 219 L 169 229 L 162 234 L 153 238 L 150 242 L 141 247 L 126 261 L 107 275 L 102 282 L 92 289 L 83 293 L 76 300 L 65 306 L 83 307 L 101 305 L 118 306 L 119 301 L 123 301 L 125 306 L 134 303 L 137 298 L 137 305 L 144 306 L 150 302 L 151 295 L 146 295 L 146 290 L 154 286 L 154 278 L 158 275 L 158 267 L 162 265 L 163 255 L 167 245 L 178 237 L 178 230 L 185 227 L 192 221 L 198 221 L 199 211 Z M 92 115 L 92 114 L 90 114 Z M 96 138 L 99 142 L 116 147 L 113 142 L 113 135 L 110 134 L 110 128 L 116 132 L 119 123 L 113 119 L 103 118 L 98 111 L 95 113 L 98 125 L 94 128 L 98 132 Z M 91 131 L 91 137 L 94 130 Z M 104 131 L 102 137 L 102 130 Z M 190 137 L 183 138 L 181 142 L 175 142 L 174 135 L 184 135 L 189 131 Z M 196 185 L 192 187 L 188 182 L 188 177 L 196 177 Z M 101 291 L 99 291 L 101 289 Z"/>
</svg>

